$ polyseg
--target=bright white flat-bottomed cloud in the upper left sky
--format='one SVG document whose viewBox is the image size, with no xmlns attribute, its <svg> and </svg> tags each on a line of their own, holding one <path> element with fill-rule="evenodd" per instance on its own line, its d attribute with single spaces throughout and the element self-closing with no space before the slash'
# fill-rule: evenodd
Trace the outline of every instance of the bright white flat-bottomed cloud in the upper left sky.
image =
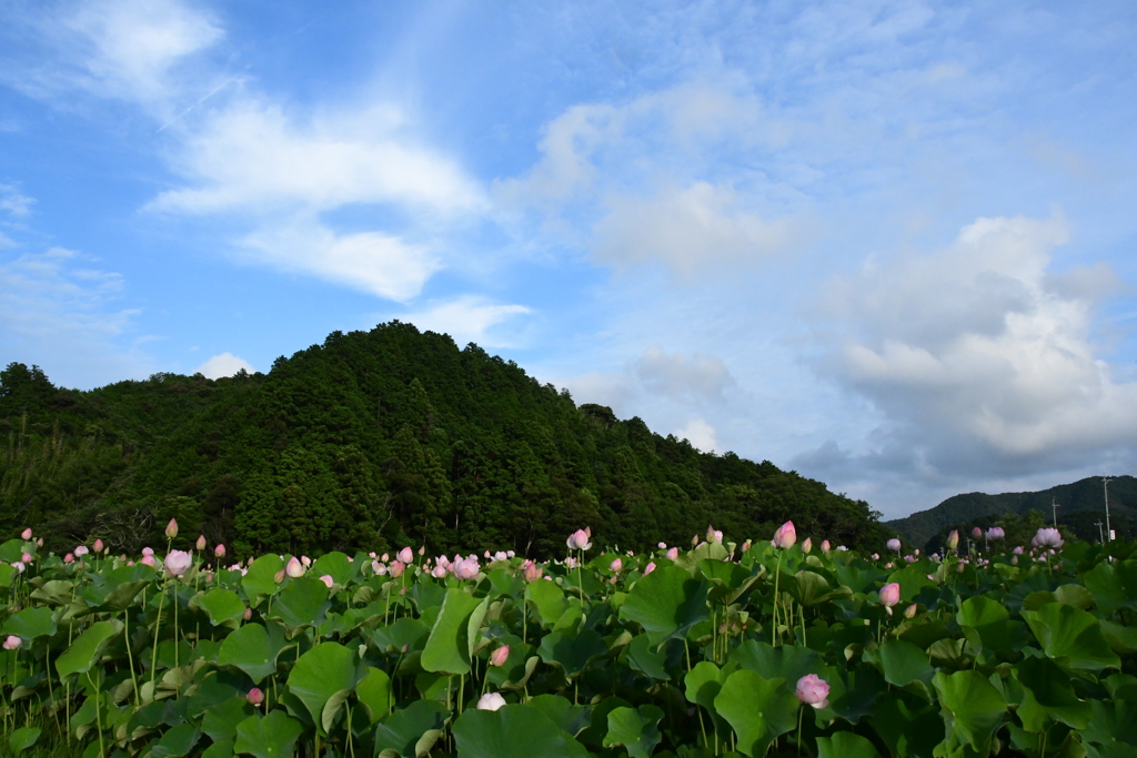
<svg viewBox="0 0 1137 758">
<path fill-rule="evenodd" d="M 207 214 L 397 203 L 455 213 L 481 203 L 457 165 L 405 133 L 398 109 L 304 120 L 275 105 L 234 101 L 185 139 L 177 168 L 193 186 L 163 192 L 149 207 Z"/>
</svg>

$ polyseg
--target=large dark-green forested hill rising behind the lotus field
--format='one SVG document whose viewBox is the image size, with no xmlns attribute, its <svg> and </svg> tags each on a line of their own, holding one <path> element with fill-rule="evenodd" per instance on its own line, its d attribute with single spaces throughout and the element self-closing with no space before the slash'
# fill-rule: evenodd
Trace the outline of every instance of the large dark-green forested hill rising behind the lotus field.
<svg viewBox="0 0 1137 758">
<path fill-rule="evenodd" d="M 707 524 L 879 547 L 863 501 L 733 453 L 700 453 L 639 418 L 576 406 L 513 361 L 392 322 L 331 334 L 268 374 L 156 374 L 82 392 L 0 373 L 0 533 L 115 552 L 205 533 L 240 557 L 425 544 L 556 556 L 688 543 Z"/>
</svg>

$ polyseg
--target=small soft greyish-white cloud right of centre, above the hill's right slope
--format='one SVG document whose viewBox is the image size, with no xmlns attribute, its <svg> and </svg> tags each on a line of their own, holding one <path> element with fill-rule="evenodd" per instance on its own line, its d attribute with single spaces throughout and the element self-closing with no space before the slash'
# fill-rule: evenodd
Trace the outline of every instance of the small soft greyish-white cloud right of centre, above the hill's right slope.
<svg viewBox="0 0 1137 758">
<path fill-rule="evenodd" d="M 597 257 L 615 265 L 661 260 L 690 276 L 786 250 L 799 239 L 791 222 L 766 222 L 739 205 L 731 188 L 707 182 L 650 199 L 613 198 L 597 225 Z"/>
</svg>

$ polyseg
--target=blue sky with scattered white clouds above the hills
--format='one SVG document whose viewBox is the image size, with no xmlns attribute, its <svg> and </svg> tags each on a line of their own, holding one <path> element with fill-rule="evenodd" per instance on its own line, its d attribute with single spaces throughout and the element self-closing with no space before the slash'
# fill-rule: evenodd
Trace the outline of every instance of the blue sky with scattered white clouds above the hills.
<svg viewBox="0 0 1137 758">
<path fill-rule="evenodd" d="M 1137 468 L 1137 6 L 0 0 L 0 363 L 398 318 L 886 517 Z"/>
</svg>

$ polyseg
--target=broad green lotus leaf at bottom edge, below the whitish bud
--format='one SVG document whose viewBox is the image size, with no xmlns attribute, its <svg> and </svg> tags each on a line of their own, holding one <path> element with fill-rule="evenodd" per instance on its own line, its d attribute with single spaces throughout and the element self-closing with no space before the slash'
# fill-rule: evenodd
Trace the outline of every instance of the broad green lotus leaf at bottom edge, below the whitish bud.
<svg viewBox="0 0 1137 758">
<path fill-rule="evenodd" d="M 522 705 L 467 710 L 454 723 L 458 758 L 587 758 L 584 745 L 537 708 Z"/>
</svg>

